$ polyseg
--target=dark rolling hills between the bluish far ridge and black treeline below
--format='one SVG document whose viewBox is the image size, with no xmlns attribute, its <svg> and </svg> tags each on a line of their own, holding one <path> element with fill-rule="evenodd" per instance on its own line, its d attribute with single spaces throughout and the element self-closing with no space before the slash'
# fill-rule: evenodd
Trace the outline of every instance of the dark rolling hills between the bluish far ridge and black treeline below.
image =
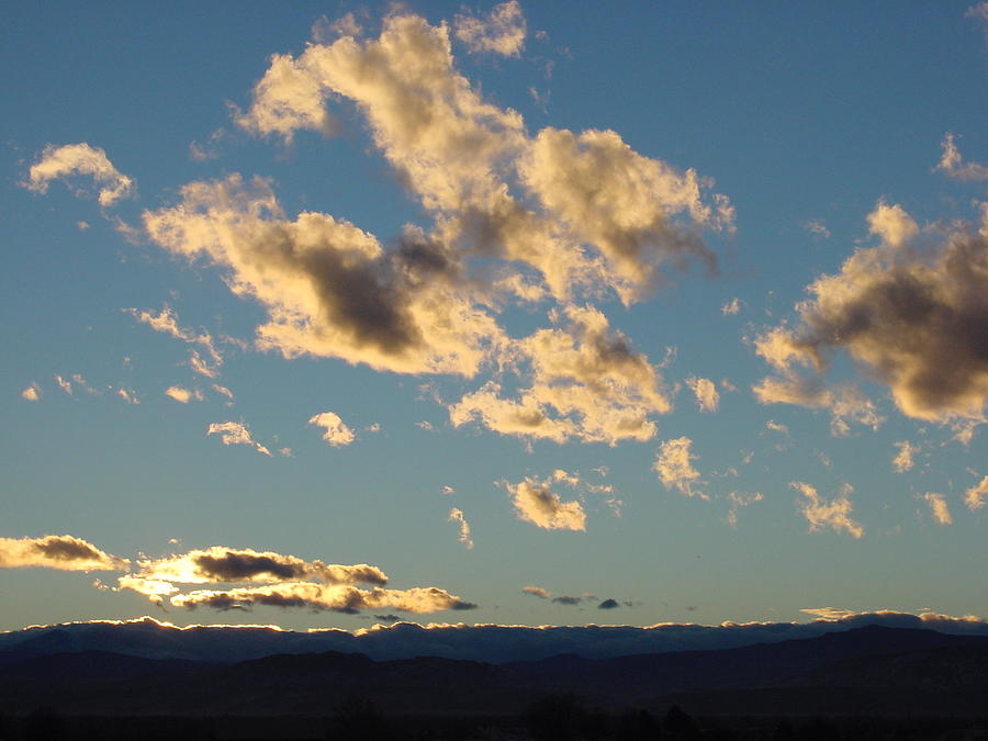
<svg viewBox="0 0 988 741">
<path fill-rule="evenodd" d="M 675 701 L 701 714 L 977 715 L 988 697 L 988 637 L 877 626 L 739 649 L 499 665 L 436 656 L 378 662 L 335 651 L 217 663 L 40 654 L 37 645 L 0 653 L 0 710 L 329 715 L 343 699 L 361 697 L 391 714 L 494 715 L 575 692 L 613 709 Z"/>
</svg>

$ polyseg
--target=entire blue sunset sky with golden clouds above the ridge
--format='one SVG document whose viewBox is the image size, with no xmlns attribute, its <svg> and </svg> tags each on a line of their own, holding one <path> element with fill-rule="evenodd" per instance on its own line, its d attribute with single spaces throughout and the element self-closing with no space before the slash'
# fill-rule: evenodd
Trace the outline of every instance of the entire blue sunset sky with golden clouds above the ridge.
<svg viewBox="0 0 988 741">
<path fill-rule="evenodd" d="M 0 630 L 988 617 L 988 3 L 0 23 Z"/>
</svg>

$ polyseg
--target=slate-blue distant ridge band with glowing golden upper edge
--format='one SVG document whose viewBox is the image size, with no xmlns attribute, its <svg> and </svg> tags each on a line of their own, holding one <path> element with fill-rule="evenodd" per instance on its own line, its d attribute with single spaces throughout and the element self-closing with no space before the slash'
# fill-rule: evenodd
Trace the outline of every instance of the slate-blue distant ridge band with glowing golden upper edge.
<svg viewBox="0 0 988 741">
<path fill-rule="evenodd" d="M 559 654 L 609 659 L 645 653 L 729 649 L 816 638 L 868 625 L 932 629 L 942 633 L 988 636 L 988 624 L 900 613 L 857 615 L 842 620 L 757 622 L 723 626 L 430 626 L 398 622 L 351 633 L 346 630 L 295 632 L 257 627 L 176 628 L 151 618 L 132 622 L 79 622 L 0 633 L 0 652 L 111 651 L 148 659 L 244 661 L 279 653 L 340 651 L 375 661 L 441 656 L 501 664 Z"/>
</svg>

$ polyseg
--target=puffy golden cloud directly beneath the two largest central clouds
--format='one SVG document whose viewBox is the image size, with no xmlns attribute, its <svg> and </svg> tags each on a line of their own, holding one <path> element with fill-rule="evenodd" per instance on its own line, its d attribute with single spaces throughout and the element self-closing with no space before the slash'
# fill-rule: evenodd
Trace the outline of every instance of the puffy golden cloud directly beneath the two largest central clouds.
<svg viewBox="0 0 988 741">
<path fill-rule="evenodd" d="M 527 364 L 530 385 L 510 400 L 489 381 L 449 407 L 452 425 L 480 419 L 502 435 L 560 444 L 650 439 L 649 414 L 671 405 L 648 358 L 594 307 L 569 305 L 550 317 L 562 327 L 539 329 L 512 348 L 515 362 Z"/>
</svg>

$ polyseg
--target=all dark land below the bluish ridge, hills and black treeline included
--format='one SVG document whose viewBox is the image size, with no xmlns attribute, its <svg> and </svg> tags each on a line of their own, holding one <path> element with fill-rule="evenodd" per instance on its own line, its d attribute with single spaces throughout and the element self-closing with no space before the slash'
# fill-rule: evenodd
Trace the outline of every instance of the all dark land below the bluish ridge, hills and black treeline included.
<svg viewBox="0 0 988 741">
<path fill-rule="evenodd" d="M 988 741 L 988 638 L 931 630 L 505 664 L 61 648 L 0 652 L 0 740 Z"/>
</svg>

